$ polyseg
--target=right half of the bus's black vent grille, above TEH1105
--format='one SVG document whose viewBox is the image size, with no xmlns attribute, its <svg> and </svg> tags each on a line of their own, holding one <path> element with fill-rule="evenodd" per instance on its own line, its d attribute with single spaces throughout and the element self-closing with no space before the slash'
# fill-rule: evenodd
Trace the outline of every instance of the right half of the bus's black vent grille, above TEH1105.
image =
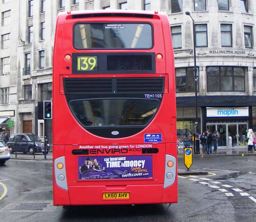
<svg viewBox="0 0 256 222">
<path fill-rule="evenodd" d="M 117 93 L 159 93 L 164 92 L 164 78 L 117 78 Z"/>
</svg>

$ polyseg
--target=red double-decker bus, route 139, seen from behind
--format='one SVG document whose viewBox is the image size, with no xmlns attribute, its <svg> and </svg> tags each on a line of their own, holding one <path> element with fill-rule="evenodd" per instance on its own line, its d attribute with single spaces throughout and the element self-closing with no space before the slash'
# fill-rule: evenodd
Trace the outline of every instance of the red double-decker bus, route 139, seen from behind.
<svg viewBox="0 0 256 222">
<path fill-rule="evenodd" d="M 57 17 L 53 203 L 178 201 L 174 55 L 167 15 Z"/>
</svg>

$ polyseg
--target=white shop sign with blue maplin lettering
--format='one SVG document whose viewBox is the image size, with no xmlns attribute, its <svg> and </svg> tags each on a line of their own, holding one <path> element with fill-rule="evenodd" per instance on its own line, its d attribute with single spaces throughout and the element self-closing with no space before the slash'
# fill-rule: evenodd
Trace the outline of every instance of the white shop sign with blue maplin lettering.
<svg viewBox="0 0 256 222">
<path fill-rule="evenodd" d="M 248 117 L 248 107 L 211 108 L 206 107 L 206 117 Z"/>
</svg>

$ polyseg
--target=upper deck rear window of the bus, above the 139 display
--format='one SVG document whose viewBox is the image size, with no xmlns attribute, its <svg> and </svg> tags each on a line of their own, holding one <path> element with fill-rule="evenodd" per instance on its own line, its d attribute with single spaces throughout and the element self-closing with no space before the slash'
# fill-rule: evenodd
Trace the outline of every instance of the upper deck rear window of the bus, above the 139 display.
<svg viewBox="0 0 256 222">
<path fill-rule="evenodd" d="M 149 49 L 152 26 L 145 23 L 78 23 L 74 26 L 76 49 Z"/>
</svg>

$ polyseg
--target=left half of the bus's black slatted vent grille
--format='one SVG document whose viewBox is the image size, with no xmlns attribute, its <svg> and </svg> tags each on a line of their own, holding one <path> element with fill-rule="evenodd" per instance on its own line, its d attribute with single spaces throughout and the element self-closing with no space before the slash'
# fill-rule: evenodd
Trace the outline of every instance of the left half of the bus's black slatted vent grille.
<svg viewBox="0 0 256 222">
<path fill-rule="evenodd" d="M 73 78 L 63 83 L 66 95 L 112 93 L 111 78 Z"/>
</svg>

